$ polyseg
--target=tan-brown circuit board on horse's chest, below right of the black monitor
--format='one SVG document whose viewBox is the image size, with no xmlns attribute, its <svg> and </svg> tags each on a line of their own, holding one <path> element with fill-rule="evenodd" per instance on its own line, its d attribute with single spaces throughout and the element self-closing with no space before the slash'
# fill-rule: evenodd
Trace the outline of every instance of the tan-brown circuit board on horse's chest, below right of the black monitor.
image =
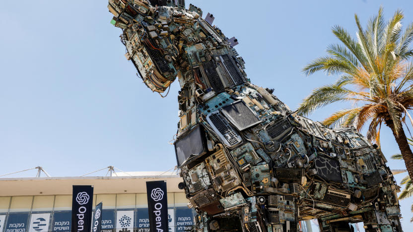
<svg viewBox="0 0 413 232">
<path fill-rule="evenodd" d="M 221 149 L 213 153 L 205 159 L 205 162 L 213 185 L 218 192 L 227 191 L 241 184 L 238 174 L 229 163 L 224 150 Z"/>
</svg>

